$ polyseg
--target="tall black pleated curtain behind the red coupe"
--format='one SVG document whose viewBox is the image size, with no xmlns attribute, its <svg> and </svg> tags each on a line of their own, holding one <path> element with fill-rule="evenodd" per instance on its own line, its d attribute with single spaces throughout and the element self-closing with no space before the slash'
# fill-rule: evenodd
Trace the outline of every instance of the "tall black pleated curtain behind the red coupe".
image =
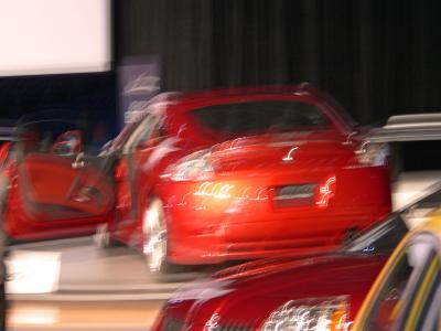
<svg viewBox="0 0 441 331">
<path fill-rule="evenodd" d="M 159 54 L 163 90 L 311 82 L 362 124 L 441 110 L 441 2 L 120 0 L 115 54 Z"/>
</svg>

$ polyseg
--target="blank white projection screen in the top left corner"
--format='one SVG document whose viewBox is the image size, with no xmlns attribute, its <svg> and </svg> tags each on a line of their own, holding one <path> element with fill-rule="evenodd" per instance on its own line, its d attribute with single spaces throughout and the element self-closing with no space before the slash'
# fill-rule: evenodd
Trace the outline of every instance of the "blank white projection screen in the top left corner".
<svg viewBox="0 0 441 331">
<path fill-rule="evenodd" d="M 0 76 L 110 67 L 110 0 L 0 0 Z"/>
</svg>

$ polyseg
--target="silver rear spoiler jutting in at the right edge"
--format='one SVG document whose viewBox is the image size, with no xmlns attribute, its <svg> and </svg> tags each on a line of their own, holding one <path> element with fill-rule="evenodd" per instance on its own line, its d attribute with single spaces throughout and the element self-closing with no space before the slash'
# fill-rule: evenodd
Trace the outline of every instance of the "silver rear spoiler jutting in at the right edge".
<svg viewBox="0 0 441 331">
<path fill-rule="evenodd" d="M 381 128 L 370 130 L 366 143 L 441 140 L 441 113 L 391 116 Z"/>
</svg>

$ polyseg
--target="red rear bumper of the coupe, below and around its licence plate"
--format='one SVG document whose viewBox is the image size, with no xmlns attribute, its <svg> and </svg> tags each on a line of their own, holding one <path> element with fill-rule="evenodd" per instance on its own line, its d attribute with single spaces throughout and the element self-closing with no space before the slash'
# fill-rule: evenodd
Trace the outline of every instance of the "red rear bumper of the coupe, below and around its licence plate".
<svg viewBox="0 0 441 331">
<path fill-rule="evenodd" d="M 361 231 L 390 212 L 386 168 L 351 169 L 336 179 L 335 196 L 324 207 L 277 206 L 270 185 L 258 180 L 163 183 L 158 192 L 168 220 L 169 258 L 212 264 L 334 249 L 347 231 Z"/>
</svg>

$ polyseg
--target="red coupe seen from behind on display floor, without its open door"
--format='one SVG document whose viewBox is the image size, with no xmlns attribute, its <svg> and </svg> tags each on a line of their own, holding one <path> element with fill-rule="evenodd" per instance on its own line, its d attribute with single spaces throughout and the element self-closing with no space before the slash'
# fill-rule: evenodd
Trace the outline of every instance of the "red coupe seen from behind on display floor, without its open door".
<svg viewBox="0 0 441 331">
<path fill-rule="evenodd" d="M 308 84 L 164 94 L 106 147 L 116 217 L 101 246 L 153 271 L 330 249 L 390 211 L 387 153 Z"/>
</svg>

